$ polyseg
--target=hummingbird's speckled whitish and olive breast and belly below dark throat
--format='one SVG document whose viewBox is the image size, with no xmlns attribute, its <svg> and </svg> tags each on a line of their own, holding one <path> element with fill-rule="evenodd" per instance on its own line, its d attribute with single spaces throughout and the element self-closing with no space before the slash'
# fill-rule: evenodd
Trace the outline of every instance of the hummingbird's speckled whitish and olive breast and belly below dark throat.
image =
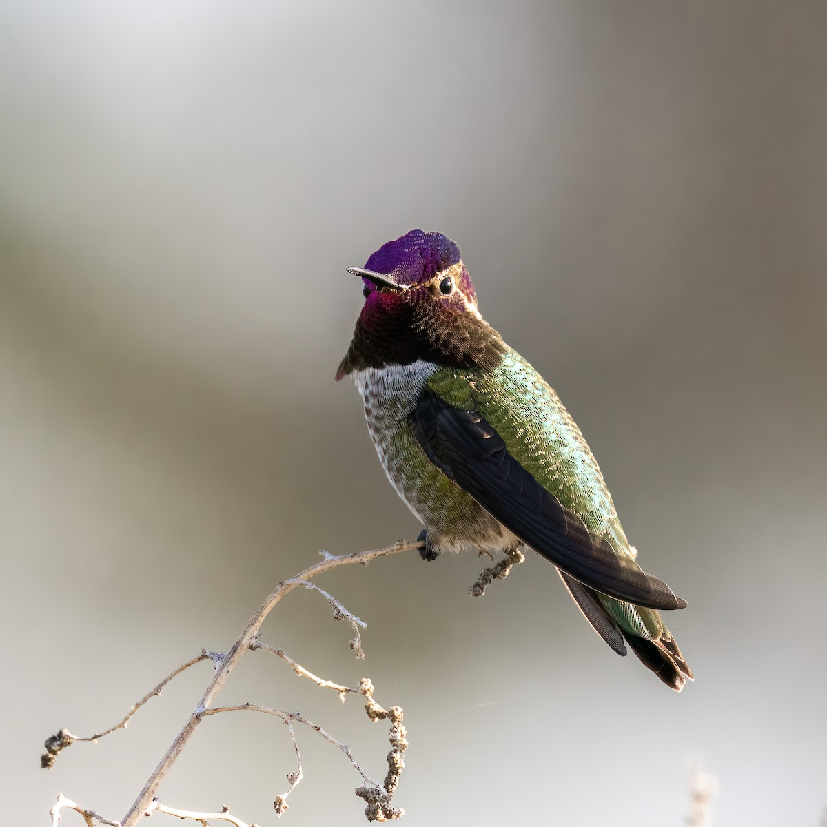
<svg viewBox="0 0 827 827">
<path fill-rule="evenodd" d="M 507 551 L 518 538 L 425 457 L 411 430 L 409 414 L 437 370 L 417 361 L 355 372 L 370 437 L 396 493 L 428 529 L 434 551 Z"/>
</svg>

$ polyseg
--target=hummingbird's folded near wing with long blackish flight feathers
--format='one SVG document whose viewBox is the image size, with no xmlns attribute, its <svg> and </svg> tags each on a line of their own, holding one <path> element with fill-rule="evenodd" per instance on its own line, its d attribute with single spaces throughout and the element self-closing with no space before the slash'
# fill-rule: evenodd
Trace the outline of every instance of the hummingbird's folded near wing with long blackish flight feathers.
<svg viewBox="0 0 827 827">
<path fill-rule="evenodd" d="M 650 609 L 682 609 L 686 600 L 619 556 L 605 538 L 550 494 L 509 454 L 500 434 L 475 411 L 454 408 L 425 390 L 411 414 L 428 459 L 505 528 L 576 581 Z"/>
</svg>

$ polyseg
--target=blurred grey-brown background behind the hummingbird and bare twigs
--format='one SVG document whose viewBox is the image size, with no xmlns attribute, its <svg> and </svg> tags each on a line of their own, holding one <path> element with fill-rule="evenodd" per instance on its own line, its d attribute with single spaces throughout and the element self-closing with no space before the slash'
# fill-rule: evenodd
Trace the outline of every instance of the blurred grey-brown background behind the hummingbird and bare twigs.
<svg viewBox="0 0 827 827">
<path fill-rule="evenodd" d="M 678 696 L 615 657 L 535 557 L 483 600 L 470 557 L 324 577 L 365 663 L 304 591 L 265 638 L 404 706 L 410 827 L 681 825 L 699 754 L 717 824 L 816 824 L 825 26 L 769 0 L 3 3 L 7 817 L 46 824 L 63 791 L 120 818 L 209 667 L 42 772 L 48 734 L 227 648 L 318 549 L 416 536 L 332 377 L 361 305 L 345 268 L 424 227 L 689 600 L 669 620 L 697 680 Z M 356 700 L 248 661 L 222 701 L 299 709 L 383 776 Z M 356 773 L 299 737 L 283 823 L 363 823 Z M 272 824 L 293 766 L 275 720 L 223 716 L 161 795 Z"/>
</svg>

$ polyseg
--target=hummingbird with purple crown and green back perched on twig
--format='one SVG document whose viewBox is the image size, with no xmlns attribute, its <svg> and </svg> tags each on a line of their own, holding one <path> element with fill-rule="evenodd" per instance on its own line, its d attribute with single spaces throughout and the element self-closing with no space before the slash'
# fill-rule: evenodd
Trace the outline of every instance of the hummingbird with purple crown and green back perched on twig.
<svg viewBox="0 0 827 827">
<path fill-rule="evenodd" d="M 348 272 L 365 303 L 336 379 L 355 381 L 423 558 L 532 548 L 616 653 L 681 691 L 692 672 L 660 611 L 686 600 L 638 565 L 580 429 L 480 315 L 457 244 L 411 230 Z"/>
</svg>

